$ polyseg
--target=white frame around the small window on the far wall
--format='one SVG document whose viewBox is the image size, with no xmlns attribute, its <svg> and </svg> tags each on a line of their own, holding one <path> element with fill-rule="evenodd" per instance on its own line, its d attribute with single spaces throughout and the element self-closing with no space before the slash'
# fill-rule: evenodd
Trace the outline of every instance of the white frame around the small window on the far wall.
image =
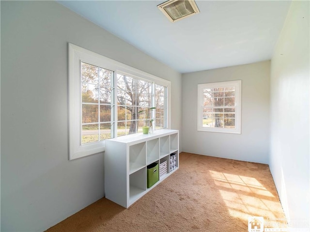
<svg viewBox="0 0 310 232">
<path fill-rule="evenodd" d="M 235 128 L 210 128 L 202 126 L 203 117 L 203 89 L 206 88 L 221 88 L 235 87 Z M 197 106 L 197 131 L 219 132 L 219 133 L 234 133 L 241 134 L 241 80 L 225 81 L 216 83 L 206 83 L 198 85 L 198 106 Z"/>
</svg>

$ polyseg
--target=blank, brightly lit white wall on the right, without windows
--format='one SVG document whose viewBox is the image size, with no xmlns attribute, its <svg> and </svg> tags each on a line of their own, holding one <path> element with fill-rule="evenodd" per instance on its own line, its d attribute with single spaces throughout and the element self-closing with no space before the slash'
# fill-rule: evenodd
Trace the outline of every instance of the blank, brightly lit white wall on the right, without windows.
<svg viewBox="0 0 310 232">
<path fill-rule="evenodd" d="M 309 231 L 310 2 L 293 1 L 271 60 L 270 169 L 293 228 Z"/>
</svg>

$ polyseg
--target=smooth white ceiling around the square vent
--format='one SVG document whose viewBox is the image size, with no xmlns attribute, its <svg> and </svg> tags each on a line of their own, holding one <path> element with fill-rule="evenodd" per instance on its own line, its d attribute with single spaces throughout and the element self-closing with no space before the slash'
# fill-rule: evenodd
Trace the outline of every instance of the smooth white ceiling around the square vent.
<svg viewBox="0 0 310 232">
<path fill-rule="evenodd" d="M 154 0 L 58 1 L 180 73 L 270 59 L 291 1 L 197 0 L 171 23 Z"/>
</svg>

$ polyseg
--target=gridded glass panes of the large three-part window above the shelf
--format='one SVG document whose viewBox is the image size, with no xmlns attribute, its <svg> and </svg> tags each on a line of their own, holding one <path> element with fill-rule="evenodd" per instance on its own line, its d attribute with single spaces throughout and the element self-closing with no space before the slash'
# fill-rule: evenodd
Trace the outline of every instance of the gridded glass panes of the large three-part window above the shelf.
<svg viewBox="0 0 310 232">
<path fill-rule="evenodd" d="M 113 75 L 113 71 L 81 62 L 82 144 L 112 138 Z M 151 82 L 123 74 L 116 78 L 117 136 L 142 132 L 142 126 L 151 119 L 156 129 L 167 127 L 167 87 L 155 84 L 153 106 Z M 143 110 L 150 107 L 156 107 L 155 112 L 146 118 Z"/>
</svg>

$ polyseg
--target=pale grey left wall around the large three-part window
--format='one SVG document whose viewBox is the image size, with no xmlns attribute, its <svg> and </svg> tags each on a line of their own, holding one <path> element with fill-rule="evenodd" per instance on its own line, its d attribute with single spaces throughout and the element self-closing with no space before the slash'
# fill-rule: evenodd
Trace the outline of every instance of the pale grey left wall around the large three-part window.
<svg viewBox="0 0 310 232">
<path fill-rule="evenodd" d="M 171 80 L 181 74 L 55 1 L 1 1 L 1 231 L 43 231 L 104 196 L 104 154 L 68 161 L 67 43 Z"/>
</svg>

